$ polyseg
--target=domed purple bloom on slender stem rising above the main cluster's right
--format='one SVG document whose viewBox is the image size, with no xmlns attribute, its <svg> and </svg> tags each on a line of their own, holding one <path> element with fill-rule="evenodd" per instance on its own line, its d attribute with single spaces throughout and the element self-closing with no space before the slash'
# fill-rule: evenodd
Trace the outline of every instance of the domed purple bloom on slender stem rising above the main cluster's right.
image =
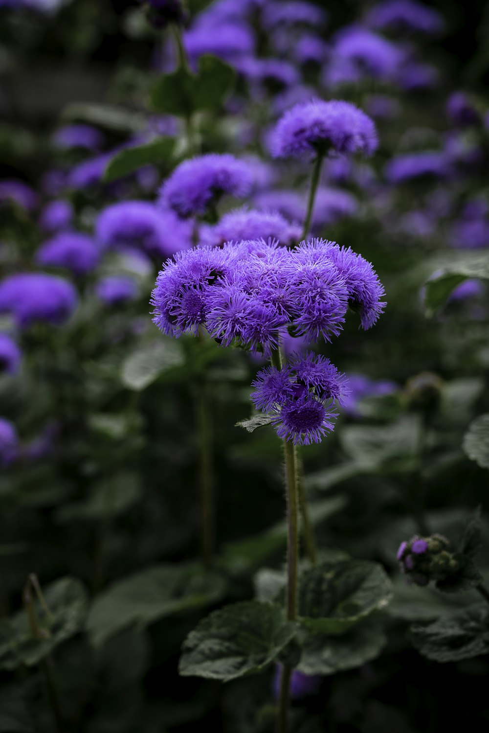
<svg viewBox="0 0 489 733">
<path fill-rule="evenodd" d="M 275 158 L 302 158 L 330 150 L 371 155 L 378 144 L 370 117 L 350 102 L 312 100 L 299 103 L 278 121 L 272 140 Z"/>
</svg>

